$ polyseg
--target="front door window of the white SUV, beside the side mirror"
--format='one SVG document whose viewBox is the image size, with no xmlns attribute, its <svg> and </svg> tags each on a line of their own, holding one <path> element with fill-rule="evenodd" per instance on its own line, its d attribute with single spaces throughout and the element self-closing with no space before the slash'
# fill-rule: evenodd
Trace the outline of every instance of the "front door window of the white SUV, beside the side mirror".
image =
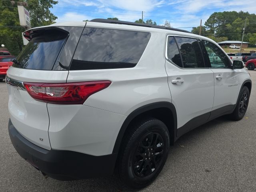
<svg viewBox="0 0 256 192">
<path fill-rule="evenodd" d="M 229 58 L 218 46 L 205 40 L 202 40 L 202 43 L 208 53 L 206 59 L 210 62 L 212 68 L 230 68 L 231 64 Z"/>
</svg>

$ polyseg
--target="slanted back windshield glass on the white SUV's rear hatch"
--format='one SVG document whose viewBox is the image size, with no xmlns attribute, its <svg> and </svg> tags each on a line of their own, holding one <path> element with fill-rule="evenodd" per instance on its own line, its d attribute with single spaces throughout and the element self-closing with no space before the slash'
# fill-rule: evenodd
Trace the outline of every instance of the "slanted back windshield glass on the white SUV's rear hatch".
<svg viewBox="0 0 256 192">
<path fill-rule="evenodd" d="M 52 70 L 64 45 L 67 33 L 56 30 L 40 30 L 14 60 L 14 67 L 34 70 Z"/>
</svg>

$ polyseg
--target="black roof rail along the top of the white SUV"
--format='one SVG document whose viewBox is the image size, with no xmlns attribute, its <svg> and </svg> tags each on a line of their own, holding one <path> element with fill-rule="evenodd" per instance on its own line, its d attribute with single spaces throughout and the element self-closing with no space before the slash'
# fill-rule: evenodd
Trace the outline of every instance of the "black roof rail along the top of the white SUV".
<svg viewBox="0 0 256 192">
<path fill-rule="evenodd" d="M 112 20 L 112 19 L 92 19 L 92 20 L 90 20 L 90 22 L 134 25 L 134 26 L 151 27 L 151 28 L 167 29 L 167 30 L 180 31 L 180 32 L 185 32 L 185 33 L 191 33 L 186 30 L 170 28 L 170 27 L 166 27 L 166 26 L 150 25 L 150 24 L 144 24 L 144 23 L 135 23 L 135 22 L 128 22 L 128 21 Z"/>
</svg>

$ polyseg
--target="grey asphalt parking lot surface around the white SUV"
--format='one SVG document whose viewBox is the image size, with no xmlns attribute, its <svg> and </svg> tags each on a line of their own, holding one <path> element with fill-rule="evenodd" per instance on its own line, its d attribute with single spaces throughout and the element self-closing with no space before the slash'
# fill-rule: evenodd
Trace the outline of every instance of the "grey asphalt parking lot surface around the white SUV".
<svg viewBox="0 0 256 192">
<path fill-rule="evenodd" d="M 158 178 L 141 191 L 256 191 L 256 70 L 250 74 L 253 87 L 244 118 L 234 122 L 221 117 L 182 136 L 170 147 Z M 115 176 L 66 182 L 45 179 L 12 146 L 5 82 L 0 82 L 0 106 L 1 192 L 131 190 Z"/>
</svg>

